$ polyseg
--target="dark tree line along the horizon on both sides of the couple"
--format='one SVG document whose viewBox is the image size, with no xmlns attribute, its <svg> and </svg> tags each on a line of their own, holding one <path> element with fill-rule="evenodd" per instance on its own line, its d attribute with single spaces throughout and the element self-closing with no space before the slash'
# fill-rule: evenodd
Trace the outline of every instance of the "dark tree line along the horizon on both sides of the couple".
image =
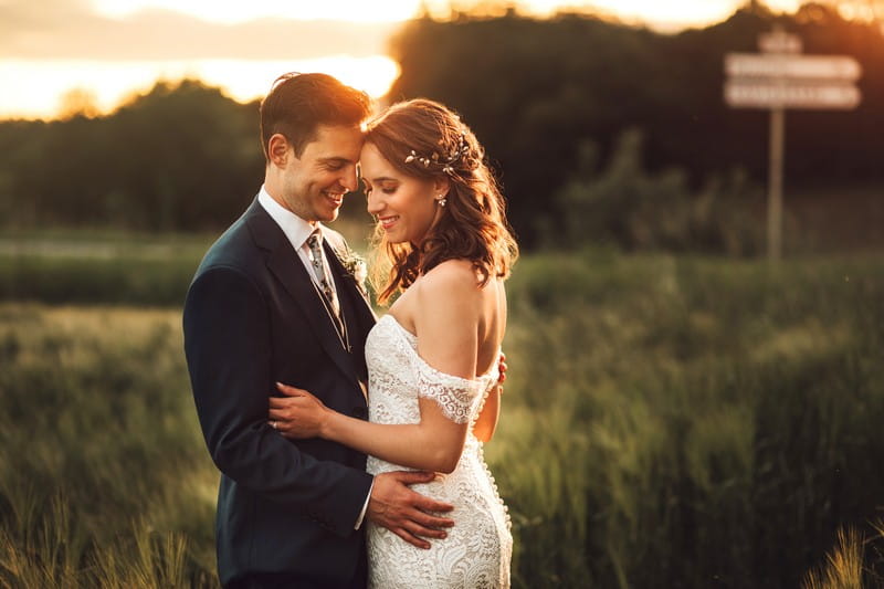
<svg viewBox="0 0 884 589">
<path fill-rule="evenodd" d="M 828 4 L 774 14 L 753 2 L 677 34 L 587 14 L 425 17 L 392 40 L 402 74 L 388 101 L 425 96 L 461 113 L 486 146 L 514 228 L 530 248 L 567 229 L 560 220 L 575 206 L 575 187 L 612 176 L 606 167 L 628 129 L 642 137 L 627 143 L 641 150 L 634 156 L 651 178 L 677 169 L 685 206 L 736 169 L 746 186 L 764 182 L 767 117 L 725 105 L 724 54 L 757 51 L 758 34 L 775 24 L 798 34 L 804 53 L 852 55 L 864 71 L 856 111 L 789 112 L 788 181 L 881 186 L 884 38 Z M 6 227 L 215 230 L 249 202 L 262 173 L 257 104 L 197 81 L 158 83 L 103 117 L 0 123 Z M 615 200 L 618 188 L 603 192 Z M 656 207 L 666 207 L 664 197 Z M 617 208 L 607 210 L 622 224 Z"/>
</svg>

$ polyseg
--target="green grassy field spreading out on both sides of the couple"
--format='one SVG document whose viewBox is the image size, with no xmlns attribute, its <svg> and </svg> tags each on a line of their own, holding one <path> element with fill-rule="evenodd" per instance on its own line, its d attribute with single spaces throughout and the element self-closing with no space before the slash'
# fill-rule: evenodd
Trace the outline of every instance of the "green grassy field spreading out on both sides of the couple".
<svg viewBox="0 0 884 589">
<path fill-rule="evenodd" d="M 0 273 L 43 302 L 0 305 L 0 586 L 217 583 L 217 473 L 169 295 L 201 246 L 137 250 L 77 306 L 45 303 L 84 292 L 94 259 L 0 255 L 57 264 L 28 270 L 43 286 Z M 840 528 L 832 561 L 882 580 L 884 257 L 538 254 L 509 298 L 486 456 L 515 587 L 800 587 Z"/>
</svg>

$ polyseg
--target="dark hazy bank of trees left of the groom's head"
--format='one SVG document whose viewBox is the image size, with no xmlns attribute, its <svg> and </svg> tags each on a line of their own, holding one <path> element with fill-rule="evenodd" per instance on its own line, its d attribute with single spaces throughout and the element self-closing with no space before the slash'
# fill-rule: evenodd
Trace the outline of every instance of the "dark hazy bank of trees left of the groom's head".
<svg viewBox="0 0 884 589">
<path fill-rule="evenodd" d="M 257 105 L 158 83 L 110 116 L 0 125 L 0 224 L 225 227 L 263 177 Z"/>
</svg>

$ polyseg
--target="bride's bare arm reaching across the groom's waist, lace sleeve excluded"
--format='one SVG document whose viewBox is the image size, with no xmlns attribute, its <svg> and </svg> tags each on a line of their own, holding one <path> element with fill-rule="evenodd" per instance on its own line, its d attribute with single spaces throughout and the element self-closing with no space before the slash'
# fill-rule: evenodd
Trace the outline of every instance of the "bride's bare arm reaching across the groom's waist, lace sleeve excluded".
<svg viewBox="0 0 884 589">
<path fill-rule="evenodd" d="M 475 375 L 481 293 L 472 270 L 445 263 L 424 276 L 415 292 L 418 353 L 459 379 Z M 333 411 L 306 391 L 280 386 L 290 399 L 271 399 L 271 420 L 291 438 L 319 437 L 402 466 L 452 472 L 463 452 L 469 422 L 459 423 L 421 395 L 419 423 L 380 424 Z M 423 392 L 423 391 L 422 391 Z"/>
</svg>

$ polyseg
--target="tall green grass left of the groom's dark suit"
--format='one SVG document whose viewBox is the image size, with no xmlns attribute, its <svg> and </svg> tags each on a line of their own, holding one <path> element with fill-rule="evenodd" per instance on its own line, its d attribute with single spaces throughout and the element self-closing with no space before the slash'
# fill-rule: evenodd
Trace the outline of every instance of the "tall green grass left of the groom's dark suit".
<svg viewBox="0 0 884 589">
<path fill-rule="evenodd" d="M 0 307 L 0 586 L 210 586 L 177 314 Z"/>
</svg>

